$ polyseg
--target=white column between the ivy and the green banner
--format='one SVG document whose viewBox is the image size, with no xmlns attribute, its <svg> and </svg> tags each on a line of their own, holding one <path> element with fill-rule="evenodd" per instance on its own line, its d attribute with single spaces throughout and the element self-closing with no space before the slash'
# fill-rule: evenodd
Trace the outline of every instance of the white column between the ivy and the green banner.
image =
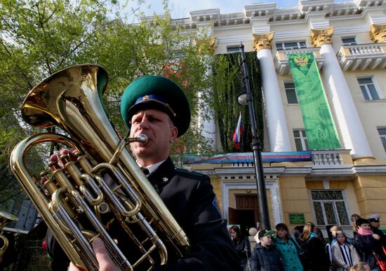
<svg viewBox="0 0 386 271">
<path fill-rule="evenodd" d="M 270 151 L 292 151 L 271 50 L 268 48 L 258 50 L 258 60 L 262 72 L 262 90 L 267 114 Z"/>
</svg>

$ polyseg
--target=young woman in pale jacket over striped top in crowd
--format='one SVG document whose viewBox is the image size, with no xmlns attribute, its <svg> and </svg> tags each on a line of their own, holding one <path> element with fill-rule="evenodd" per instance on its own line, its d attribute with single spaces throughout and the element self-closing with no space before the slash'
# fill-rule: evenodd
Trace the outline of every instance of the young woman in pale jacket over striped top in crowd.
<svg viewBox="0 0 386 271">
<path fill-rule="evenodd" d="M 345 232 L 335 232 L 336 242 L 332 245 L 333 264 L 336 271 L 346 271 L 359 263 L 359 255 L 352 244 L 347 242 Z"/>
</svg>

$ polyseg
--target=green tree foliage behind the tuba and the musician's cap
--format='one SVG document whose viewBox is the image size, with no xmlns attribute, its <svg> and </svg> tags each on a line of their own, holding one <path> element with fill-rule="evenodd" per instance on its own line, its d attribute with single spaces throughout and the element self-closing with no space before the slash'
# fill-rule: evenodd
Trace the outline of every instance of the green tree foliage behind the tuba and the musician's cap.
<svg viewBox="0 0 386 271">
<path fill-rule="evenodd" d="M 165 17 L 154 16 L 154 20 L 131 25 L 125 23 L 126 14 L 121 15 L 117 2 L 0 0 L 0 169 L 4 169 L 0 183 L 11 176 L 8 157 L 15 144 L 29 134 L 45 132 L 22 122 L 22 100 L 39 81 L 65 67 L 93 63 L 107 69 L 109 85 L 104 102 L 122 135 L 127 134 L 127 127 L 119 113 L 120 95 L 131 81 L 143 75 L 168 75 L 182 85 L 192 107 L 192 119 L 197 116 L 203 99 L 199 92 L 210 86 L 206 70 L 211 53 L 200 53 L 194 35 L 182 34 L 168 16 L 167 1 Z M 138 17 L 139 8 L 131 10 Z M 210 150 L 198 125 L 192 123 L 192 127 L 175 144 L 176 153 Z M 43 162 L 41 158 L 34 160 L 36 167 Z"/>
</svg>

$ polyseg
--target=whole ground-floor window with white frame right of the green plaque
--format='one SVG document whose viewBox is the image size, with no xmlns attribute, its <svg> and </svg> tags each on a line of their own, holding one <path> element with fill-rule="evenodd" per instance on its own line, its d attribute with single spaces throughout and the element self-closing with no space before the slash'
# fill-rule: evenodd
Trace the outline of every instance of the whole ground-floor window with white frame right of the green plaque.
<svg viewBox="0 0 386 271">
<path fill-rule="evenodd" d="M 312 190 L 318 225 L 350 225 L 342 190 Z"/>
</svg>

